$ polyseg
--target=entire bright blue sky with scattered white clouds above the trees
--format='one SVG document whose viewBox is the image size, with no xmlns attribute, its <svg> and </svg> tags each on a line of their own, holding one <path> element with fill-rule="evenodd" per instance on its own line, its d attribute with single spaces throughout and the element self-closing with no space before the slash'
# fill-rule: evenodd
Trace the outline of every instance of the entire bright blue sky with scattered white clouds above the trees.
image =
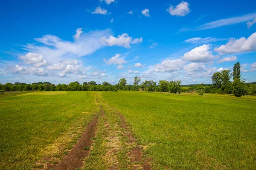
<svg viewBox="0 0 256 170">
<path fill-rule="evenodd" d="M 241 63 L 256 81 L 256 1 L 38 0 L 0 6 L 0 83 L 181 79 Z"/>
</svg>

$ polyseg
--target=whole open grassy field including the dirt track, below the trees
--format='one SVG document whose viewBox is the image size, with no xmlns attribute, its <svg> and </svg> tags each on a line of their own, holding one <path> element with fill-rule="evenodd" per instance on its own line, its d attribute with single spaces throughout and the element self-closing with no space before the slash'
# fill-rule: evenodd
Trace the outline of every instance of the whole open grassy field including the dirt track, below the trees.
<svg viewBox="0 0 256 170">
<path fill-rule="evenodd" d="M 61 169 L 77 141 L 83 170 L 256 168 L 256 96 L 41 91 L 0 105 L 0 169 Z"/>
</svg>

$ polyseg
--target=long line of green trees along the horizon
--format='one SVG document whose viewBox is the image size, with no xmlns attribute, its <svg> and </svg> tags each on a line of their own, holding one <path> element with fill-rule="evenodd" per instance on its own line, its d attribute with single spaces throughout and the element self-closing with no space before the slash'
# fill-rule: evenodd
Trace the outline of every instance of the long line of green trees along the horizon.
<svg viewBox="0 0 256 170">
<path fill-rule="evenodd" d="M 203 93 L 218 93 L 218 94 L 234 94 L 235 96 L 242 95 L 256 95 L 256 84 L 245 83 L 241 79 L 241 65 L 237 62 L 231 70 L 224 70 L 216 72 L 212 75 L 212 85 L 199 84 L 192 87 L 182 87 L 181 80 L 167 81 L 159 80 L 145 80 L 141 82 L 141 78 L 134 77 L 133 85 L 127 85 L 127 80 L 122 78 L 116 85 L 111 85 L 109 82 L 96 84 L 95 81 L 84 82 L 70 82 L 70 84 L 52 84 L 50 82 L 34 82 L 32 84 L 15 82 L 14 84 L 8 82 L 5 85 L 0 84 L 0 91 L 158 91 L 180 94 L 181 92 L 198 92 Z M 231 78 L 233 77 L 233 82 Z"/>
</svg>

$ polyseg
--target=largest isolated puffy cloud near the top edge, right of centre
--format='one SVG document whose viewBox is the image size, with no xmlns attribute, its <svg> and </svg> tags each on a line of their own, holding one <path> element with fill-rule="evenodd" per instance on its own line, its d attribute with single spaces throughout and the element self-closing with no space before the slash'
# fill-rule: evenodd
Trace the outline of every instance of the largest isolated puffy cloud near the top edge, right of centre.
<svg viewBox="0 0 256 170">
<path fill-rule="evenodd" d="M 176 16 L 182 16 L 184 17 L 186 14 L 189 14 L 189 3 L 181 1 L 180 4 L 177 6 L 173 7 L 170 6 L 168 9 L 166 9 L 171 15 L 176 15 Z"/>
</svg>

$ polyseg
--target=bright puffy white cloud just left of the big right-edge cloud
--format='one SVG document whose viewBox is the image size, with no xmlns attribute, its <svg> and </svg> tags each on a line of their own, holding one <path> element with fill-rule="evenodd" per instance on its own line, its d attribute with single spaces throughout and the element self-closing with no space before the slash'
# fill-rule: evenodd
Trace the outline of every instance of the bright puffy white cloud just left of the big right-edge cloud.
<svg viewBox="0 0 256 170">
<path fill-rule="evenodd" d="M 183 59 L 191 62 L 207 62 L 212 61 L 214 56 L 212 52 L 209 51 L 210 45 L 201 45 L 192 49 L 189 52 L 186 52 L 183 56 Z"/>
</svg>

